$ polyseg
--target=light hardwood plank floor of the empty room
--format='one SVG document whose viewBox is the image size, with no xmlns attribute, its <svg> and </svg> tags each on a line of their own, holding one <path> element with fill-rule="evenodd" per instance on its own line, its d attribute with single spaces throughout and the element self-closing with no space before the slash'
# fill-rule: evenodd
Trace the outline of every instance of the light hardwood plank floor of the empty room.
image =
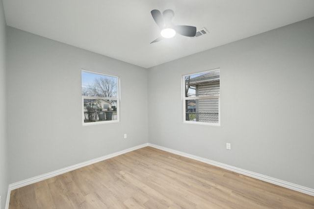
<svg viewBox="0 0 314 209">
<path fill-rule="evenodd" d="M 11 191 L 9 209 L 314 209 L 314 197 L 144 147 Z"/>
</svg>

